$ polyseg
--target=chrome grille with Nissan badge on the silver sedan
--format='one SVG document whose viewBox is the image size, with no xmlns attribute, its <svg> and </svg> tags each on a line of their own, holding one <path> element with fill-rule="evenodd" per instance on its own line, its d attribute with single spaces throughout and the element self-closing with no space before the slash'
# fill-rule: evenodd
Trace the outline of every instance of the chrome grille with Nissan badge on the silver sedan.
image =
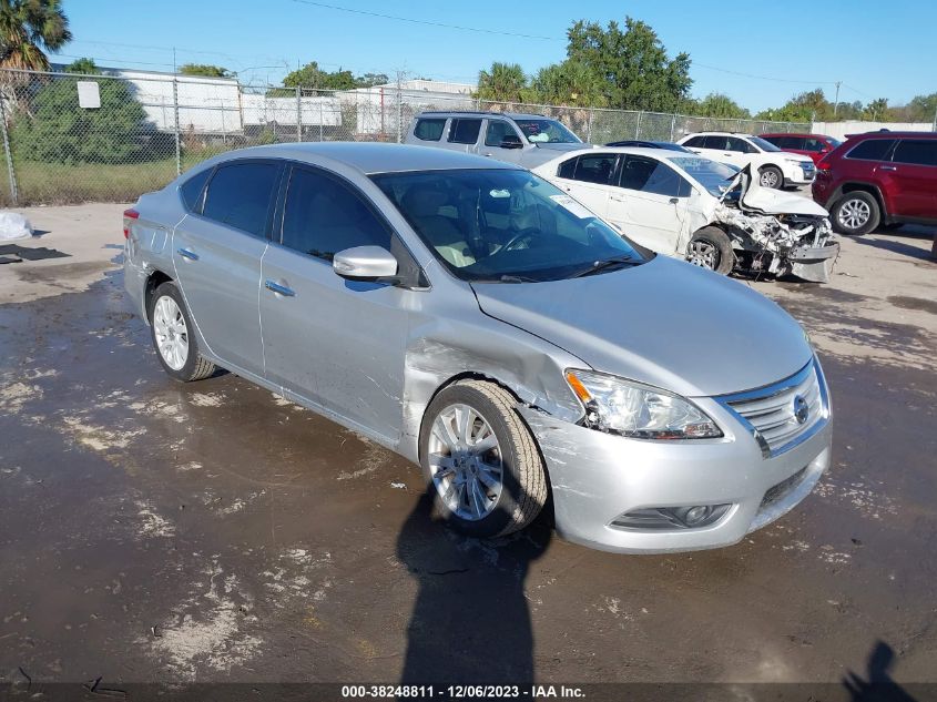
<svg viewBox="0 0 937 702">
<path fill-rule="evenodd" d="M 826 420 L 827 401 L 822 383 L 816 365 L 811 362 L 786 380 L 720 399 L 753 429 L 763 452 L 776 456 Z M 802 419 L 806 409 L 803 421 L 797 418 L 798 407 Z"/>
</svg>

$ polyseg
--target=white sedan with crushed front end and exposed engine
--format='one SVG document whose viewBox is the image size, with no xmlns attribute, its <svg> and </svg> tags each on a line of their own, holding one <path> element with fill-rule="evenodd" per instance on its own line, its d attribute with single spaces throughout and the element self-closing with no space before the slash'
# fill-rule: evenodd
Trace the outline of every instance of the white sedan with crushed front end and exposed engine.
<svg viewBox="0 0 937 702">
<path fill-rule="evenodd" d="M 564 154 L 537 169 L 631 240 L 722 274 L 825 283 L 839 253 L 829 213 L 703 156 L 618 147 Z"/>
</svg>

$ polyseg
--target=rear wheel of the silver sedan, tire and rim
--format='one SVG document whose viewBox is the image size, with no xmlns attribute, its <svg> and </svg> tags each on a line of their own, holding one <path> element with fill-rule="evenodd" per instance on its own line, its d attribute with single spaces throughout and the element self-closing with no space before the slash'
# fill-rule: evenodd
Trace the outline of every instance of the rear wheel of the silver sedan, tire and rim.
<svg viewBox="0 0 937 702">
<path fill-rule="evenodd" d="M 149 313 L 150 337 L 163 370 L 181 383 L 202 380 L 215 372 L 215 364 L 198 352 L 192 317 L 174 283 L 153 292 Z"/>
</svg>

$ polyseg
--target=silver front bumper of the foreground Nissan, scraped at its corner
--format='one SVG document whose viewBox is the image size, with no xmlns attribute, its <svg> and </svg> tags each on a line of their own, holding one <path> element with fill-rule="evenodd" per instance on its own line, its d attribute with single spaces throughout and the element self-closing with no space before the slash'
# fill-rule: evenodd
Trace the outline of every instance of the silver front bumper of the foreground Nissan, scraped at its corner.
<svg viewBox="0 0 937 702">
<path fill-rule="evenodd" d="M 712 398 L 693 401 L 719 423 L 723 438 L 627 439 L 521 407 L 550 474 L 558 533 L 622 553 L 730 546 L 793 509 L 829 466 L 828 419 L 806 440 L 765 458 L 734 413 Z M 612 526 L 620 516 L 642 509 L 722 503 L 731 503 L 727 512 L 702 528 Z"/>
</svg>

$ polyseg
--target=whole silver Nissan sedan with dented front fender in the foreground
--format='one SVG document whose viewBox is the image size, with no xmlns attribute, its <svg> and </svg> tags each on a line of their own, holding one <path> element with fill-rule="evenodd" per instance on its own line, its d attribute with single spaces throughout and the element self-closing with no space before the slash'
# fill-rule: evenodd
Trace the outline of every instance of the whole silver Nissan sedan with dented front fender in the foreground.
<svg viewBox="0 0 937 702">
<path fill-rule="evenodd" d="M 478 537 L 725 546 L 809 494 L 829 399 L 801 327 L 510 164 L 295 144 L 208 160 L 124 213 L 172 377 L 217 366 L 420 464 Z"/>
</svg>

